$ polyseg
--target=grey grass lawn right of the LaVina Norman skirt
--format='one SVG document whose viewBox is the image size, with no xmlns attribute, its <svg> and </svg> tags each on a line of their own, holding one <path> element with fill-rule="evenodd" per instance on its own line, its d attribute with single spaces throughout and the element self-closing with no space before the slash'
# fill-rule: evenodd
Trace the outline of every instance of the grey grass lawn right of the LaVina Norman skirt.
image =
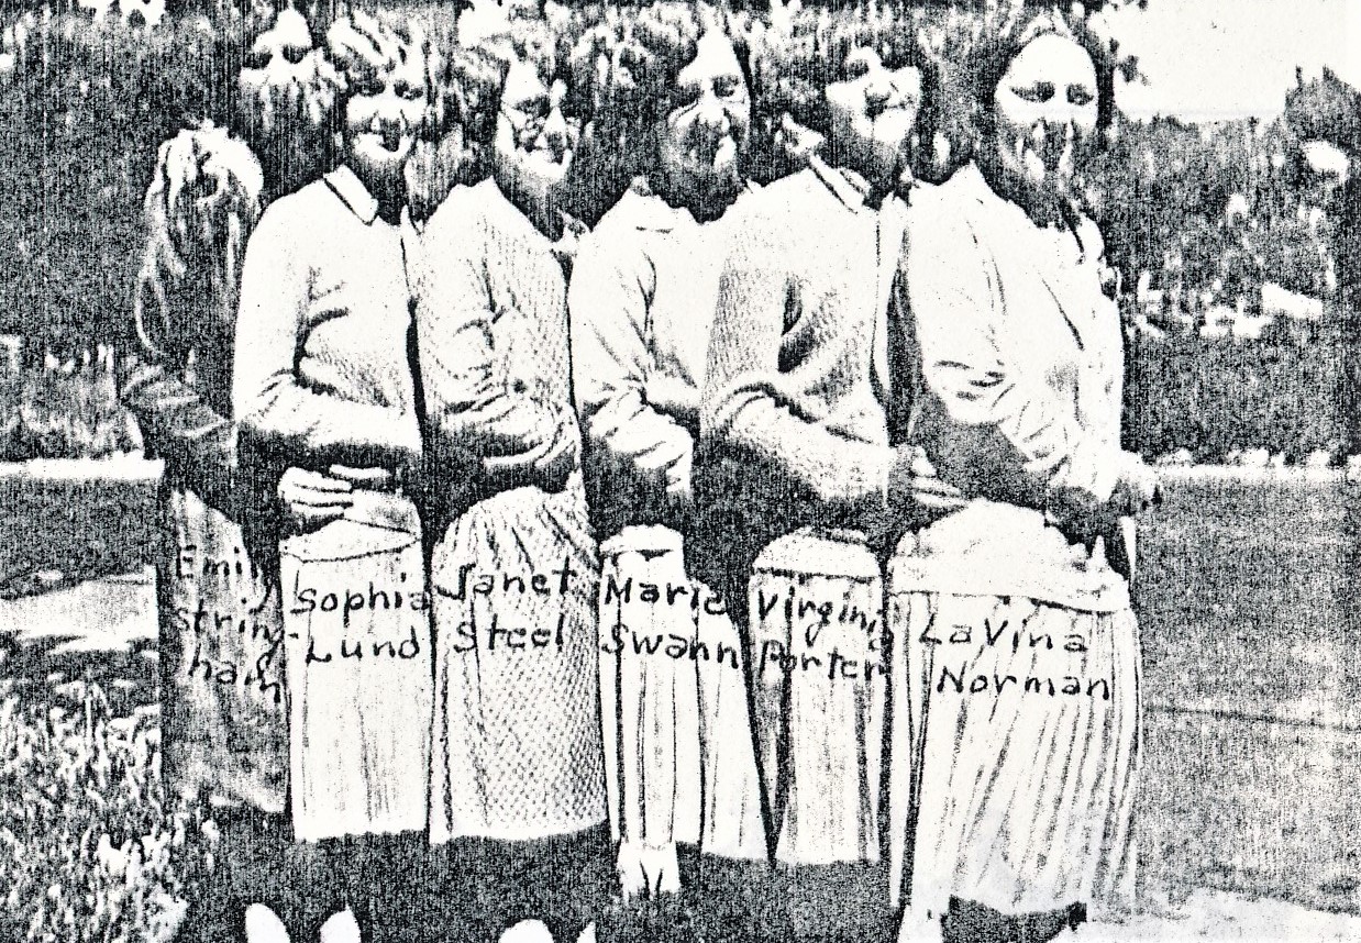
<svg viewBox="0 0 1361 943">
<path fill-rule="evenodd" d="M 1142 528 L 1150 889 L 1361 912 L 1361 489 L 1179 476 Z"/>
</svg>

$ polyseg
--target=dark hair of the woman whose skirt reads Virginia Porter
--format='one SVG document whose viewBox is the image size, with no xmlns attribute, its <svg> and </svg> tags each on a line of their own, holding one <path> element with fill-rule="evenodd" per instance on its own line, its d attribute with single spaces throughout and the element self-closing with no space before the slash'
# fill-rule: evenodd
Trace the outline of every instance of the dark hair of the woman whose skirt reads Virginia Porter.
<svg viewBox="0 0 1361 943">
<path fill-rule="evenodd" d="M 780 125 L 785 116 L 826 137 L 830 113 L 826 88 L 841 80 L 847 57 L 857 48 L 875 49 L 889 68 L 915 67 L 921 73 L 917 133 L 930 142 L 940 124 L 940 71 L 919 39 L 921 12 L 902 5 L 806 8 L 785 29 L 769 30 L 757 63 L 753 124 L 769 150 L 757 177 L 772 180 L 796 169 L 784 152 Z"/>
</svg>

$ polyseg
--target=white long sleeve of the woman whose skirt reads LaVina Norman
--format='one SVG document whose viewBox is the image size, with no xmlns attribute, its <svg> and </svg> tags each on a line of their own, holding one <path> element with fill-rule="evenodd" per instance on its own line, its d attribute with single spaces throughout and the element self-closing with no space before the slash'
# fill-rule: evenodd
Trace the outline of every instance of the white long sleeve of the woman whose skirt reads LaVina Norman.
<svg viewBox="0 0 1361 943">
<path fill-rule="evenodd" d="M 1033 377 L 999 342 L 1006 312 L 996 268 L 968 222 L 924 214 L 911 238 L 905 275 L 924 395 L 947 429 L 919 430 L 940 475 L 969 493 L 1043 503 L 1059 489 L 1105 499 L 1117 456 L 1083 431 L 1074 404 Z"/>
</svg>

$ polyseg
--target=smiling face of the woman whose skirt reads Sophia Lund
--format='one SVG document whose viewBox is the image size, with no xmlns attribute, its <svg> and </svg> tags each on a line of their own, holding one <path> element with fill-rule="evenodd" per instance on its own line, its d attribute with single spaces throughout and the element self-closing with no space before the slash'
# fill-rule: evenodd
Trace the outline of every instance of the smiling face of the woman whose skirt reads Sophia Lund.
<svg viewBox="0 0 1361 943">
<path fill-rule="evenodd" d="M 344 106 L 344 137 L 347 163 L 361 180 L 391 182 L 401 176 L 425 112 L 425 63 L 419 56 L 355 79 Z"/>
</svg>

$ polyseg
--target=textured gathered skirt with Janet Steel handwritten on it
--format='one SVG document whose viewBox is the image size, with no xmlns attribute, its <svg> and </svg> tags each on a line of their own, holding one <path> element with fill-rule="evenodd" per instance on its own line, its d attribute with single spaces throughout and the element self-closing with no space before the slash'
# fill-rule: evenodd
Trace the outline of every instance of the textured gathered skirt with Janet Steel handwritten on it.
<svg viewBox="0 0 1361 943">
<path fill-rule="evenodd" d="M 433 842 L 606 821 L 599 576 L 580 480 L 487 498 L 434 548 Z"/>
</svg>

